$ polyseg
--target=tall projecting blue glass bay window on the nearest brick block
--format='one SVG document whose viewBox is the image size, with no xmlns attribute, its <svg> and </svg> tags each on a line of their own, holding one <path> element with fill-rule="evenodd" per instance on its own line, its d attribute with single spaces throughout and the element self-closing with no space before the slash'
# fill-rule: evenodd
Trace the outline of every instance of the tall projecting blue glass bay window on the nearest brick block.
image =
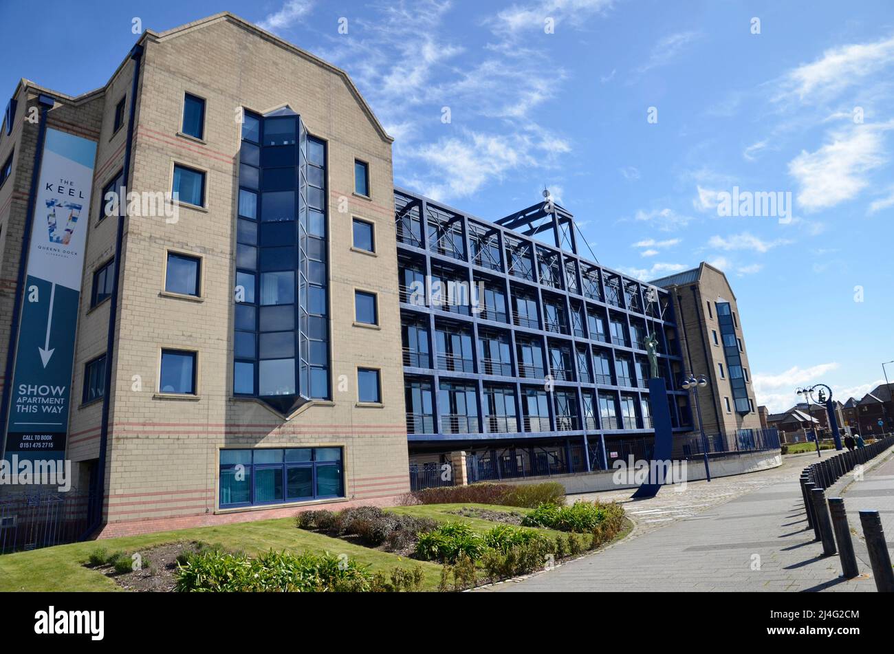
<svg viewBox="0 0 894 654">
<path fill-rule="evenodd" d="M 288 415 L 330 397 L 325 143 L 245 113 L 239 158 L 233 393 Z"/>
</svg>

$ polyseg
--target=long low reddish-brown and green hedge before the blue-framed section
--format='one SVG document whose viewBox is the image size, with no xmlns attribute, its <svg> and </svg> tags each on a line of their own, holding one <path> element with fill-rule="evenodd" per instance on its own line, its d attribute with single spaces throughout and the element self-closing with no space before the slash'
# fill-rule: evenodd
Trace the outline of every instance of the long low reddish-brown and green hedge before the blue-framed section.
<svg viewBox="0 0 894 654">
<path fill-rule="evenodd" d="M 429 488 L 413 493 L 418 504 L 497 504 L 533 508 L 565 503 L 565 487 L 557 482 L 531 484 L 473 483 L 469 486 Z"/>
</svg>

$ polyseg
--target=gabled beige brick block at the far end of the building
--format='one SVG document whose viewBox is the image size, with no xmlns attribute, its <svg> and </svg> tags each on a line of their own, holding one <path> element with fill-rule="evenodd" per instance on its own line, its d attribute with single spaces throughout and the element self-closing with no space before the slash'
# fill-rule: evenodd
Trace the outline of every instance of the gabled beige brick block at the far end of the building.
<svg viewBox="0 0 894 654">
<path fill-rule="evenodd" d="M 736 295 L 726 275 L 711 264 L 654 280 L 668 289 L 678 316 L 683 373 L 702 375 L 696 390 L 704 432 L 733 435 L 761 429 L 755 389 L 739 320 Z"/>
</svg>

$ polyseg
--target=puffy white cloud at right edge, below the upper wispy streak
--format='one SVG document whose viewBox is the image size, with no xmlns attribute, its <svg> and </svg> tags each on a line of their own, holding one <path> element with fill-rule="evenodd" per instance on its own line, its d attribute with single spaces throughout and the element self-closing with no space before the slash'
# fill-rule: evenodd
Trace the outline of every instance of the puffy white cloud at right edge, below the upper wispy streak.
<svg viewBox="0 0 894 654">
<path fill-rule="evenodd" d="M 869 185 L 865 175 L 887 162 L 881 135 L 889 126 L 858 125 L 830 133 L 829 142 L 814 152 L 803 150 L 789 162 L 789 174 L 800 185 L 797 201 L 817 211 L 852 199 Z"/>
</svg>

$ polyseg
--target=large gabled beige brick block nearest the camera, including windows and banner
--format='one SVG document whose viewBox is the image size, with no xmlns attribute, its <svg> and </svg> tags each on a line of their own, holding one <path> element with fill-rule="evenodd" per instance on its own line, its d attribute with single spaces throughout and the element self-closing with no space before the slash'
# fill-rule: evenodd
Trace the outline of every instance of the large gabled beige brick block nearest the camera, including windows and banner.
<svg viewBox="0 0 894 654">
<path fill-rule="evenodd" d="M 0 162 L 6 457 L 72 460 L 105 533 L 409 490 L 392 138 L 344 71 L 149 30 L 95 91 L 21 80 Z"/>
</svg>

